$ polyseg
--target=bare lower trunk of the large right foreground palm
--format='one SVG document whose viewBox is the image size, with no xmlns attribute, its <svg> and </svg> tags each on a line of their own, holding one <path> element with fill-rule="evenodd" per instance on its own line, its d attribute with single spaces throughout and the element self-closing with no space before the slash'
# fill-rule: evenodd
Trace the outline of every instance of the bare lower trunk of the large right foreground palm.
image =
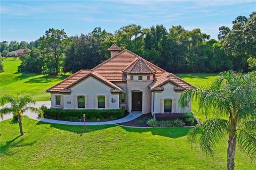
<svg viewBox="0 0 256 170">
<path fill-rule="evenodd" d="M 227 169 L 235 169 L 235 152 L 236 152 L 236 135 L 230 134 L 228 139 L 228 149 L 227 149 Z"/>
</svg>

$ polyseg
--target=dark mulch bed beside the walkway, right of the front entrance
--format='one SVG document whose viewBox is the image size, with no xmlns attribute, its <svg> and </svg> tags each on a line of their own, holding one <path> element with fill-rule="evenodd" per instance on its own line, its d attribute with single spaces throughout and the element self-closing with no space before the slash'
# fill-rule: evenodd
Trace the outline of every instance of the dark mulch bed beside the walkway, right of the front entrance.
<svg viewBox="0 0 256 170">
<path fill-rule="evenodd" d="M 153 118 L 152 114 L 148 113 L 148 114 L 143 114 L 140 117 L 137 117 L 132 121 L 118 123 L 118 124 L 124 125 L 124 126 L 134 126 L 134 127 L 150 127 L 147 125 L 147 121 L 150 120 L 150 118 Z"/>
</svg>

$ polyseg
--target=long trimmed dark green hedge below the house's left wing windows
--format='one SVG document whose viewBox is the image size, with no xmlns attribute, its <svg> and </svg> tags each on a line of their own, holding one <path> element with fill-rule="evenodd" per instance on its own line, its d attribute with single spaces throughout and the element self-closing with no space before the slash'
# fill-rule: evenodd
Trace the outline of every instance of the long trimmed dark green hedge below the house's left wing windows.
<svg viewBox="0 0 256 170">
<path fill-rule="evenodd" d="M 124 111 L 122 109 L 85 109 L 85 110 L 63 110 L 63 109 L 53 109 L 53 108 L 43 108 L 43 113 L 45 118 L 51 118 L 54 120 L 70 120 L 79 121 L 83 120 L 84 114 L 86 118 L 90 120 L 104 120 L 116 118 L 121 118 L 124 116 Z"/>
</svg>

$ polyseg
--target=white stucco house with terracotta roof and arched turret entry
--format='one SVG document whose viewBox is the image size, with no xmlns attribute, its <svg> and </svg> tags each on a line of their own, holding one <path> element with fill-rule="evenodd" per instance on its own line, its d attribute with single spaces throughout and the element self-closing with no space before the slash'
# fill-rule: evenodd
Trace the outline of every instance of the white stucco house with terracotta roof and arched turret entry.
<svg viewBox="0 0 256 170">
<path fill-rule="evenodd" d="M 111 58 L 91 70 L 80 70 L 46 90 L 51 93 L 51 108 L 117 109 L 127 112 L 191 112 L 178 106 L 181 92 L 193 88 L 172 73 L 113 44 Z"/>
</svg>

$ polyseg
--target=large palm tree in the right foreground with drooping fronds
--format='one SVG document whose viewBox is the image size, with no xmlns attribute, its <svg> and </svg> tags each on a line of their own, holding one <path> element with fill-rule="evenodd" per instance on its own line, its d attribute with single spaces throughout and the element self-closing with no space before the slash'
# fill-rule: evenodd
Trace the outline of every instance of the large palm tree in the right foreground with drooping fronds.
<svg viewBox="0 0 256 170">
<path fill-rule="evenodd" d="M 222 72 L 210 87 L 183 91 L 179 106 L 185 107 L 187 100 L 198 101 L 199 112 L 205 114 L 206 118 L 207 115 L 213 115 L 213 118 L 197 124 L 189 131 L 189 142 L 193 143 L 199 137 L 201 149 L 206 155 L 213 155 L 218 141 L 228 135 L 228 170 L 235 166 L 236 143 L 252 161 L 256 160 L 255 75 Z"/>
</svg>

